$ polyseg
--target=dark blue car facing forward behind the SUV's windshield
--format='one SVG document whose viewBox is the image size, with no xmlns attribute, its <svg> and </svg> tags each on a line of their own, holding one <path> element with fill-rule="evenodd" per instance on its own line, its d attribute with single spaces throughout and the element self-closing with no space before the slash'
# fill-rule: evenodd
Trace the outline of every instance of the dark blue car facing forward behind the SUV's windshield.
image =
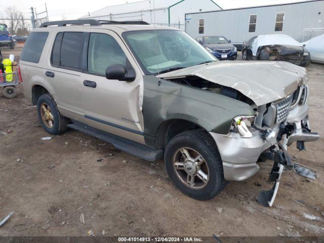
<svg viewBox="0 0 324 243">
<path fill-rule="evenodd" d="M 237 58 L 236 47 L 222 35 L 198 36 L 196 41 L 219 60 L 235 60 Z"/>
</svg>

